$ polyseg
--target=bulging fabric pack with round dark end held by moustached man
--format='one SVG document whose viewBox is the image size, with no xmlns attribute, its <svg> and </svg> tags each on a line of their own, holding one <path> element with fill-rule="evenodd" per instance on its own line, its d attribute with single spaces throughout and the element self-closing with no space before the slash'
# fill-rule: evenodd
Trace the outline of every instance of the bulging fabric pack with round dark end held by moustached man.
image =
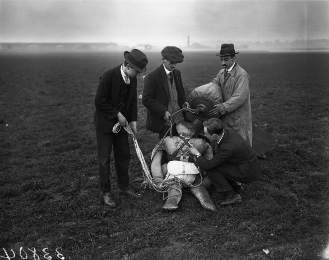
<svg viewBox="0 0 329 260">
<path fill-rule="evenodd" d="M 208 83 L 195 88 L 189 95 L 189 103 L 192 109 L 198 110 L 195 117 L 208 119 L 209 111 L 214 105 L 223 103 L 221 87 L 216 83 Z"/>
</svg>

